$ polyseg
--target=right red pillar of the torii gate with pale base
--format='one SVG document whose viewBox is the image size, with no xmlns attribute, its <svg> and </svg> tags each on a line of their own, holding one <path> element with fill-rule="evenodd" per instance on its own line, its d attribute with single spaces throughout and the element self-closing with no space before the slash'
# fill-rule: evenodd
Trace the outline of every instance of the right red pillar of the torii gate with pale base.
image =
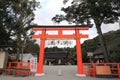
<svg viewBox="0 0 120 80">
<path fill-rule="evenodd" d="M 76 33 L 76 53 L 77 53 L 77 68 L 78 68 L 78 73 L 76 74 L 76 76 L 85 77 L 83 63 L 82 63 L 82 50 L 81 50 L 81 43 L 79 39 L 79 35 L 80 35 L 79 29 L 76 29 L 75 33 Z"/>
</svg>

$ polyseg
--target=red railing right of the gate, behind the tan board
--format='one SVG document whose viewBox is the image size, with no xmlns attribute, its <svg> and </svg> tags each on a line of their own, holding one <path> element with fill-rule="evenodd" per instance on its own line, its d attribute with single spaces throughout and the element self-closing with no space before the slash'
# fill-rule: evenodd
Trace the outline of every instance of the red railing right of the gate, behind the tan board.
<svg viewBox="0 0 120 80">
<path fill-rule="evenodd" d="M 84 72 L 88 76 L 96 77 L 96 66 L 109 66 L 112 76 L 120 78 L 120 63 L 83 63 Z"/>
</svg>

